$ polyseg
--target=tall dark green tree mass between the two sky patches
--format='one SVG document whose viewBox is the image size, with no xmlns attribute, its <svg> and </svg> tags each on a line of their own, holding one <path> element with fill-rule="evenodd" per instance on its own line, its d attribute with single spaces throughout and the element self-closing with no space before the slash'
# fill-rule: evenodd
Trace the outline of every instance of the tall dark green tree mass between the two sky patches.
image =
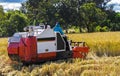
<svg viewBox="0 0 120 76">
<path fill-rule="evenodd" d="M 64 29 L 74 25 L 79 26 L 80 32 L 86 28 L 88 32 L 94 32 L 96 26 L 105 26 L 107 14 L 103 8 L 107 2 L 109 0 L 28 0 L 21 10 L 26 9 L 29 24 L 42 22 L 53 26 L 59 21 Z"/>
</svg>

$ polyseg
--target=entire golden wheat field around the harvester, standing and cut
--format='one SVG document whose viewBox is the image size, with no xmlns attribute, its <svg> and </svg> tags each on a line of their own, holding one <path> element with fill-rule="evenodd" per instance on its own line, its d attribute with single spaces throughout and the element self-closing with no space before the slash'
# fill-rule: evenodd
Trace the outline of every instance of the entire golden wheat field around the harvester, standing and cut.
<svg viewBox="0 0 120 76">
<path fill-rule="evenodd" d="M 67 34 L 90 47 L 87 59 L 50 61 L 22 66 L 7 56 L 7 38 L 0 38 L 0 76 L 120 76 L 120 32 Z"/>
</svg>

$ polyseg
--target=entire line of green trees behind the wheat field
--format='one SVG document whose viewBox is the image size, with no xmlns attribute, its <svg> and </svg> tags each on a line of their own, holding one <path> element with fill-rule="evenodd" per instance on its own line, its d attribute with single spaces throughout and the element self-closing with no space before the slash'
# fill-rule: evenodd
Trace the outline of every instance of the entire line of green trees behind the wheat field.
<svg viewBox="0 0 120 76">
<path fill-rule="evenodd" d="M 110 0 L 27 0 L 19 11 L 4 12 L 0 6 L 0 36 L 11 36 L 28 25 L 56 22 L 79 32 L 120 31 L 120 13 L 107 6 Z"/>
</svg>

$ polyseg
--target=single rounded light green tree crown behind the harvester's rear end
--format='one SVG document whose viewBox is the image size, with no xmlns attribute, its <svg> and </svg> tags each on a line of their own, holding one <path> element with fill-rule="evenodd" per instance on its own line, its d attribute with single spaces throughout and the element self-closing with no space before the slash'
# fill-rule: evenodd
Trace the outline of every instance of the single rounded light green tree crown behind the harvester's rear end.
<svg viewBox="0 0 120 76">
<path fill-rule="evenodd" d="M 15 32 L 22 32 L 23 28 L 27 26 L 27 18 L 22 13 L 12 14 L 9 20 L 10 25 L 8 26 L 8 31 L 11 33 L 9 35 L 12 35 Z"/>
</svg>

